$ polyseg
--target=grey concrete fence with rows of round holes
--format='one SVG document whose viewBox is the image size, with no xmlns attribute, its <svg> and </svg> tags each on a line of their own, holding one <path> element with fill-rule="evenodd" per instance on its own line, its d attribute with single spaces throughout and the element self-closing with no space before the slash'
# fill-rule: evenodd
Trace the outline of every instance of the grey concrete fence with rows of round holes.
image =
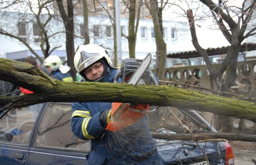
<svg viewBox="0 0 256 165">
<path fill-rule="evenodd" d="M 220 67 L 220 64 L 214 64 L 214 69 Z M 233 86 L 231 87 L 231 91 L 236 94 L 248 96 L 251 95 L 256 97 L 256 60 L 244 61 L 237 63 L 237 78 Z M 223 75 L 224 81 L 225 73 Z M 166 68 L 165 70 L 165 78 L 164 81 L 172 81 L 175 83 L 181 84 L 191 84 L 194 86 L 201 86 L 210 89 L 210 75 L 206 65 L 198 65 L 198 66 L 185 66 L 185 67 L 177 67 L 177 68 Z M 163 83 L 162 83 L 163 84 Z M 191 88 L 188 86 L 181 86 L 179 84 L 171 84 L 165 83 L 171 86 L 176 86 L 188 90 L 196 90 L 202 91 L 201 89 Z M 218 90 L 216 84 L 214 83 L 214 90 Z M 210 93 L 209 91 L 203 90 L 205 93 Z M 218 119 L 216 115 L 212 113 L 199 112 L 209 123 L 213 121 L 214 126 L 218 129 L 220 123 L 218 123 Z M 239 124 L 242 130 L 252 130 L 255 129 L 256 124 L 252 121 L 248 120 L 240 120 L 238 118 L 230 117 L 228 123 L 230 123 L 230 128 L 232 131 L 238 130 Z M 219 131 L 221 132 L 221 128 L 219 127 Z"/>
</svg>

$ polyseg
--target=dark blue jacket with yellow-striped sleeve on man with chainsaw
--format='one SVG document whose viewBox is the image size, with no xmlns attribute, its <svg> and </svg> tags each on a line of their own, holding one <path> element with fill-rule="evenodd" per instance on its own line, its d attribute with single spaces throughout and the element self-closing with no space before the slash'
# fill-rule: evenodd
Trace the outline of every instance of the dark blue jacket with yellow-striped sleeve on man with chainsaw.
<svg viewBox="0 0 256 165">
<path fill-rule="evenodd" d="M 116 72 L 111 68 L 103 82 L 113 83 Z M 86 156 L 88 165 L 162 165 L 149 132 L 147 117 L 118 132 L 110 132 L 99 121 L 99 114 L 109 109 L 111 103 L 72 104 L 72 131 L 81 139 L 91 140 L 91 152 Z"/>
</svg>

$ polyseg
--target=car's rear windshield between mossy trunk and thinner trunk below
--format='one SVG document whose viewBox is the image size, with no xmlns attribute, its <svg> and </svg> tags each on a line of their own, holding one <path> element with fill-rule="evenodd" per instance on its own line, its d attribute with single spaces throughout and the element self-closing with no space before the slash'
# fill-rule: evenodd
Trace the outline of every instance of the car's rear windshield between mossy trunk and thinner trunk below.
<svg viewBox="0 0 256 165">
<path fill-rule="evenodd" d="M 151 132 L 157 133 L 206 133 L 210 132 L 210 124 L 202 119 L 198 113 L 192 110 L 174 107 L 152 107 L 158 108 L 153 114 L 148 114 L 149 128 Z M 152 109 L 151 108 L 151 109 Z M 211 120 L 212 114 L 204 114 Z M 157 139 L 157 142 L 163 140 Z"/>
</svg>

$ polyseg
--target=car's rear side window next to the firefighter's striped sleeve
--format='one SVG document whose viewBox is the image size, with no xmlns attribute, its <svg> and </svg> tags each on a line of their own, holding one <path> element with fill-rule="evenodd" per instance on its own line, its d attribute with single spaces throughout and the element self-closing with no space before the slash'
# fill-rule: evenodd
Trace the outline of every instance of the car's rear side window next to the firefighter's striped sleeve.
<svg viewBox="0 0 256 165">
<path fill-rule="evenodd" d="M 71 105 L 49 104 L 39 125 L 35 146 L 90 151 L 90 141 L 72 133 L 71 116 Z"/>
</svg>

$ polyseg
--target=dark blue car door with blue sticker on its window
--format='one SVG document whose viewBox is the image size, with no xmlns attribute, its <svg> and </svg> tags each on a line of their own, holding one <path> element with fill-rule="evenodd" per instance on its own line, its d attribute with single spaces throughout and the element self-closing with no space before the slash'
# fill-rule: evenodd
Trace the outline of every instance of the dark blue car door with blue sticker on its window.
<svg viewBox="0 0 256 165">
<path fill-rule="evenodd" d="M 0 118 L 0 164 L 27 165 L 31 135 L 43 104 L 13 108 Z"/>
</svg>

